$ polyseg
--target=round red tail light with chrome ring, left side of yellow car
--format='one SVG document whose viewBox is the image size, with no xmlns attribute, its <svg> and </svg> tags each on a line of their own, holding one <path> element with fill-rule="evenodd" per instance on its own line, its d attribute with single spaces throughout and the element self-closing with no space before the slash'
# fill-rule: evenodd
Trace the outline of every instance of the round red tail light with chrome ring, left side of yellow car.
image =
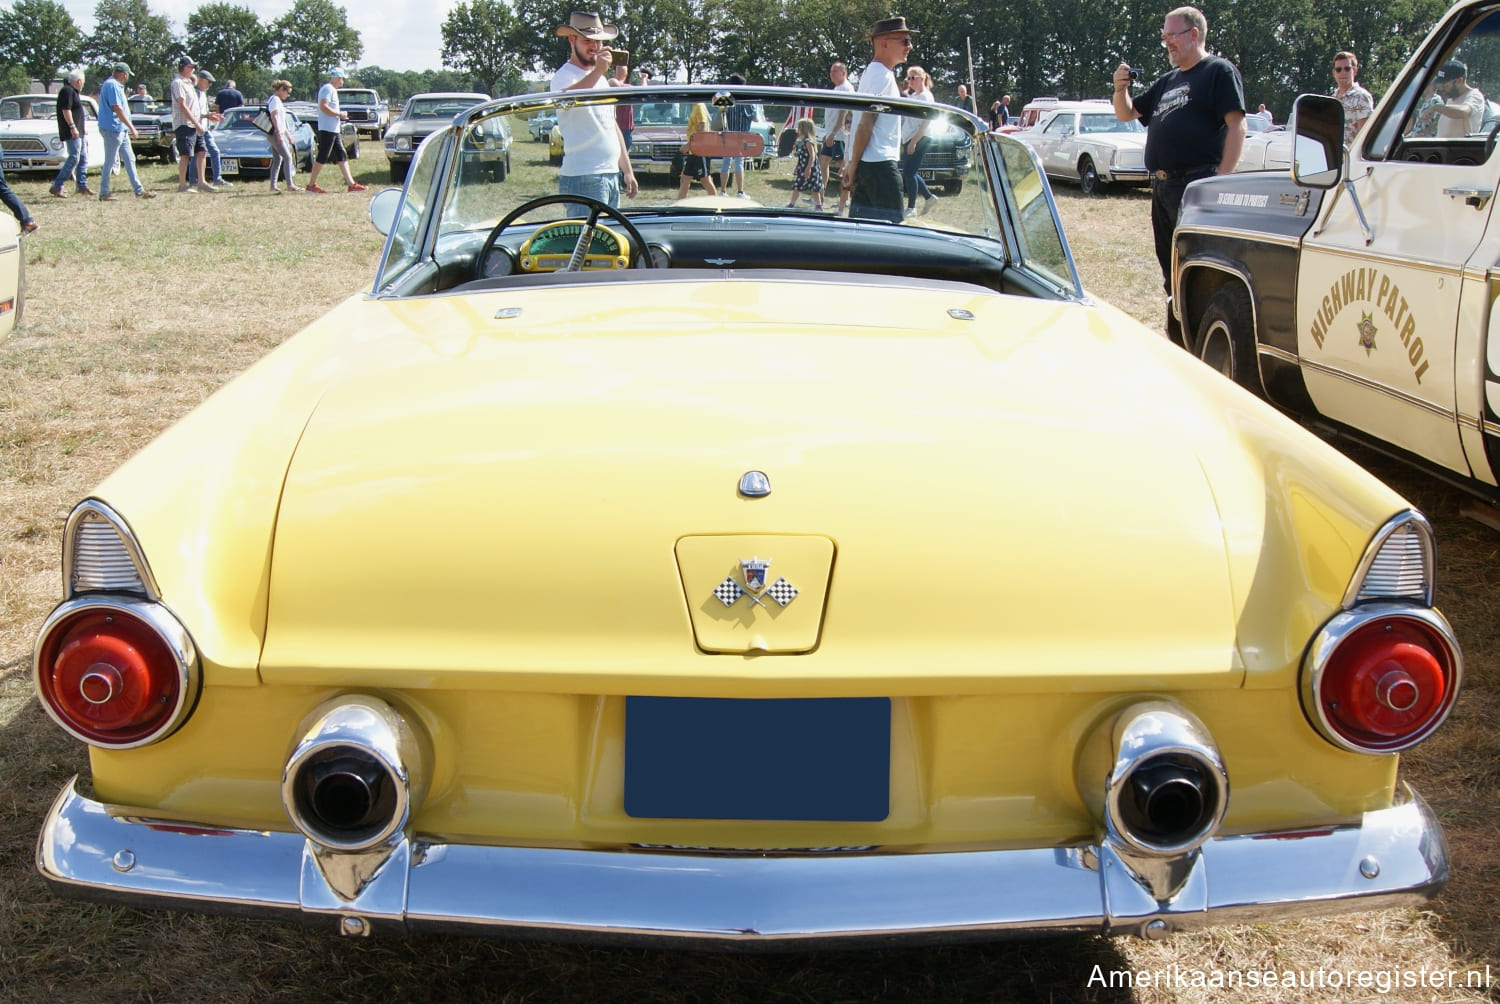
<svg viewBox="0 0 1500 1004">
<path fill-rule="evenodd" d="M 170 735 L 196 696 L 186 632 L 148 603 L 68 603 L 42 627 L 36 690 L 64 729 L 126 749 Z"/>
</svg>

